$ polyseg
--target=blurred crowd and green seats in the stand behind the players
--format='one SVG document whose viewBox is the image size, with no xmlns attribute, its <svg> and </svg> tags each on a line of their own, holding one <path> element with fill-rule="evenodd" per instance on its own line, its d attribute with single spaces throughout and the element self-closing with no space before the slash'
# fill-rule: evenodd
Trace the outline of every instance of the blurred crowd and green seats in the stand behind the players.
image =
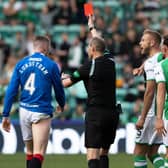
<svg viewBox="0 0 168 168">
<path fill-rule="evenodd" d="M 87 60 L 91 34 L 83 11 L 86 2 L 93 3 L 96 29 L 116 60 L 121 124 L 136 121 L 143 103 L 144 80 L 134 77 L 132 70 L 146 59 L 140 54 L 140 37 L 147 28 L 168 34 L 167 0 L 0 0 L 0 108 L 13 67 L 32 53 L 35 35 L 51 39 L 49 56 L 65 73 L 72 73 Z M 65 112 L 56 118 L 83 119 L 87 97 L 83 83 L 65 91 Z M 16 99 L 13 118 L 18 117 L 17 109 Z"/>
</svg>

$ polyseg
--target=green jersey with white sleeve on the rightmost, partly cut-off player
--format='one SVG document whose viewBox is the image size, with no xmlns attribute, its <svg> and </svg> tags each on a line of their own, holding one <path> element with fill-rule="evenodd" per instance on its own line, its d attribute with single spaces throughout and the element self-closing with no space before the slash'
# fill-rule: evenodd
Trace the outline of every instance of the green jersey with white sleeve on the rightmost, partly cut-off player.
<svg viewBox="0 0 168 168">
<path fill-rule="evenodd" d="M 168 120 L 168 58 L 161 61 L 155 68 L 156 82 L 164 82 L 166 84 L 166 102 L 164 107 L 164 117 Z"/>
</svg>

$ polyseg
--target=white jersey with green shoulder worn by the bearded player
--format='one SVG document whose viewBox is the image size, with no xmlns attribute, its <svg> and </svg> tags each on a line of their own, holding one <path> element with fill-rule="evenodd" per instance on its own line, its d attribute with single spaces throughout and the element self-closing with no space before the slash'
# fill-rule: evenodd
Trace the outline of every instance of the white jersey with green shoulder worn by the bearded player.
<svg viewBox="0 0 168 168">
<path fill-rule="evenodd" d="M 154 56 L 148 58 L 144 64 L 144 71 L 146 75 L 146 81 L 155 80 L 154 69 L 156 65 L 163 59 L 163 54 L 161 52 L 156 53 Z M 156 94 L 154 95 L 151 108 L 148 111 L 147 117 L 155 116 L 156 110 Z"/>
</svg>

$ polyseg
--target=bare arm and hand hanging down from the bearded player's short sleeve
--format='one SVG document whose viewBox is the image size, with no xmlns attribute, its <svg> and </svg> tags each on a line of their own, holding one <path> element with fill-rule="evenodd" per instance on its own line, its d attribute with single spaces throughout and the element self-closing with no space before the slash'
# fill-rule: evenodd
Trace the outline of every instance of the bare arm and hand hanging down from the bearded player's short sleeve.
<svg viewBox="0 0 168 168">
<path fill-rule="evenodd" d="M 142 129 L 147 113 L 152 105 L 153 97 L 155 94 L 156 83 L 154 80 L 147 81 L 146 90 L 144 94 L 144 106 L 141 112 L 141 116 L 136 123 L 136 129 Z"/>
</svg>

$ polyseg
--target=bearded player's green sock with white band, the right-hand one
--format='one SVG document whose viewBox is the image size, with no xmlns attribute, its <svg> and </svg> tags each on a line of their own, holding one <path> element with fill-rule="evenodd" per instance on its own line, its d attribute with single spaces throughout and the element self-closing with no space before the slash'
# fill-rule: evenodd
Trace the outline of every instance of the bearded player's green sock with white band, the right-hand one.
<svg viewBox="0 0 168 168">
<path fill-rule="evenodd" d="M 152 156 L 151 159 L 154 168 L 164 168 L 164 159 L 159 154 Z"/>
</svg>

